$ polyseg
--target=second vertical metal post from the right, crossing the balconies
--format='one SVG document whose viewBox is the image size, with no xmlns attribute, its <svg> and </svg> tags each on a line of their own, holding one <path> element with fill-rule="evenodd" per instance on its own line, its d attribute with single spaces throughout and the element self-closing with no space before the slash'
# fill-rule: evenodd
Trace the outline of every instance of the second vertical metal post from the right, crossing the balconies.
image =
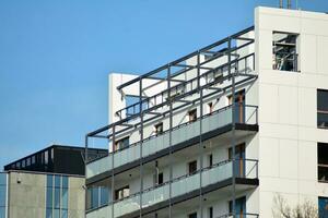
<svg viewBox="0 0 328 218">
<path fill-rule="evenodd" d="M 203 208 L 202 208 L 202 168 L 203 168 L 203 148 L 202 148 L 202 88 L 200 88 L 200 51 L 197 53 L 197 77 L 198 77 L 198 88 L 199 88 L 199 112 L 200 112 L 200 120 L 199 120 L 199 168 L 200 168 L 200 177 L 199 177 L 199 210 L 200 210 L 200 218 L 203 217 Z"/>
</svg>

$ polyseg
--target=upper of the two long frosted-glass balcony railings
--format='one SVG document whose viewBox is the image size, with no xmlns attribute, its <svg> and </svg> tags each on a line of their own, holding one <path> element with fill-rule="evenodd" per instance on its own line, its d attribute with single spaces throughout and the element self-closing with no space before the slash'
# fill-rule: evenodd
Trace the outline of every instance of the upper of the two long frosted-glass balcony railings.
<svg viewBox="0 0 328 218">
<path fill-rule="evenodd" d="M 188 141 L 200 135 L 200 122 L 202 122 L 202 133 L 223 128 L 232 123 L 232 106 L 221 108 L 212 113 L 206 114 L 195 122 L 187 122 L 172 129 L 172 146 Z M 237 105 L 235 110 L 236 123 L 256 124 L 257 106 Z M 141 158 L 140 146 L 142 146 L 142 157 L 153 155 L 164 148 L 169 147 L 169 130 L 160 135 L 151 136 L 131 144 L 130 146 L 108 154 L 108 156 L 89 162 L 86 165 L 86 178 L 92 178 L 103 172 L 132 162 Z"/>
</svg>

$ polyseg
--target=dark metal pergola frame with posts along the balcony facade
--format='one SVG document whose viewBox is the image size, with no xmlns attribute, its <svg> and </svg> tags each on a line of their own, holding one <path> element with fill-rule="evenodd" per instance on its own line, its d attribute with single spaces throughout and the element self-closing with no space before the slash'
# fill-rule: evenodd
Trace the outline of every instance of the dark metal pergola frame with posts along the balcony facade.
<svg viewBox="0 0 328 218">
<path fill-rule="evenodd" d="M 246 72 L 245 73 L 241 73 L 241 72 L 233 72 L 232 69 L 235 68 L 238 68 L 238 62 L 241 61 L 245 61 L 245 71 L 246 71 L 246 66 L 247 66 L 247 59 L 251 59 L 253 60 L 253 71 L 255 71 L 255 53 L 248 53 L 244 57 L 239 57 L 238 55 L 236 55 L 235 52 L 238 51 L 239 49 L 242 48 L 245 48 L 251 44 L 254 44 L 255 39 L 253 38 L 247 38 L 245 37 L 244 35 L 254 31 L 254 26 L 251 27 L 248 27 L 244 31 L 241 31 L 234 35 L 231 35 L 222 40 L 219 40 L 212 45 L 209 45 L 202 49 L 199 49 L 197 51 L 194 51 L 180 59 L 177 59 L 173 62 L 169 62 L 165 65 L 162 65 L 160 68 L 157 68 L 156 70 L 153 70 L 149 73 L 145 73 L 137 78 L 133 78 L 127 83 L 124 83 L 121 85 L 119 85 L 117 87 L 117 89 L 121 93 L 124 93 L 124 88 L 127 88 L 128 86 L 130 85 L 134 85 L 134 84 L 138 84 L 139 85 L 139 95 L 127 95 L 127 96 L 131 96 L 131 97 L 136 97 L 136 98 L 139 98 L 139 101 L 136 102 L 136 104 L 132 104 L 119 111 L 115 111 L 116 114 L 119 117 L 119 120 L 117 122 L 114 122 L 114 123 L 110 123 L 109 125 L 106 125 L 106 126 L 103 126 L 101 129 L 97 129 L 93 132 L 90 132 L 85 135 L 85 168 L 86 168 L 86 165 L 89 161 L 89 158 L 87 158 L 87 148 L 89 148 L 89 138 L 90 137 L 96 137 L 96 138 L 105 138 L 105 140 L 108 140 L 108 142 L 115 142 L 115 138 L 116 138 L 116 135 L 117 134 L 120 134 L 120 133 L 124 133 L 126 131 L 129 131 L 133 128 L 140 128 L 140 143 L 142 145 L 142 142 L 143 142 L 143 125 L 144 123 L 148 123 L 152 120 L 155 120 L 157 118 L 161 118 L 161 117 L 165 117 L 165 116 L 169 116 L 168 119 L 169 119 L 169 137 L 168 137 L 168 143 L 169 143 L 169 155 L 168 155 L 168 158 L 172 158 L 172 129 L 174 128 L 173 126 L 173 112 L 175 110 L 178 110 L 180 108 L 184 108 L 188 105 L 194 105 L 195 102 L 198 102 L 200 104 L 200 106 L 203 105 L 203 99 L 204 98 L 208 98 L 209 96 L 212 96 L 212 95 L 215 95 L 215 94 L 219 94 L 221 92 L 225 92 L 226 89 L 231 89 L 232 92 L 232 97 L 233 99 L 235 99 L 235 92 L 236 92 L 236 86 L 237 85 L 241 85 L 241 84 L 244 84 L 244 83 L 247 83 L 251 80 L 256 80 L 257 78 L 257 75 L 255 74 L 247 74 Z M 233 46 L 233 43 L 236 41 L 236 40 L 243 40 L 243 41 L 246 41 L 244 44 L 242 44 L 241 46 Z M 226 48 L 224 49 L 220 49 L 220 50 L 214 50 L 215 48 L 218 49 L 218 47 L 222 46 L 222 45 L 226 45 Z M 201 55 L 210 55 L 211 57 L 206 59 L 204 61 L 200 62 L 200 56 Z M 226 57 L 227 58 L 227 61 L 216 68 L 209 68 L 209 66 L 204 66 L 206 63 L 209 63 L 215 59 L 219 59 L 221 57 Z M 191 65 L 191 64 L 186 64 L 185 61 L 190 59 L 190 58 L 197 58 L 197 64 L 195 65 Z M 234 59 L 233 59 L 234 58 Z M 236 66 L 237 65 L 237 66 Z M 173 68 L 181 68 L 181 70 L 178 70 L 176 72 L 172 72 L 172 69 Z M 184 80 L 177 80 L 175 78 L 176 76 L 183 74 L 183 73 L 186 73 L 190 70 L 197 70 L 197 76 L 196 77 L 192 77 L 191 80 L 188 80 L 188 81 L 184 81 Z M 209 83 L 206 83 L 204 85 L 201 85 L 200 83 L 200 80 L 201 78 L 208 78 L 209 75 L 213 74 L 215 72 L 218 72 L 219 70 L 221 70 L 223 72 L 223 70 L 226 69 L 227 70 L 227 75 L 223 76 L 222 78 L 220 80 L 213 80 L 212 82 L 209 82 Z M 207 72 L 204 73 L 201 73 L 201 70 L 207 70 Z M 161 72 L 165 72 L 165 77 L 161 77 L 161 76 L 156 76 L 157 73 L 161 73 Z M 236 77 L 237 76 L 243 76 L 244 78 L 241 80 L 241 81 L 236 81 Z M 148 87 L 142 87 L 142 81 L 143 80 L 156 80 L 159 81 L 160 83 L 162 82 L 166 82 L 167 83 L 167 89 L 166 90 L 163 90 L 161 92 L 160 94 L 155 94 L 154 96 L 150 96 L 150 97 L 145 97 L 143 95 L 143 90 Z M 223 87 L 223 88 L 218 88 L 218 87 L 213 87 L 214 85 L 216 84 L 222 84 L 224 81 L 230 81 L 231 84 Z M 179 83 L 179 84 L 176 84 L 176 85 L 173 85 L 172 83 Z M 187 86 L 187 84 L 194 84 L 196 83 L 196 88 L 191 88 L 191 90 L 189 92 L 186 92 L 186 93 L 183 93 L 180 95 L 177 95 L 177 96 L 171 96 L 173 90 L 177 90 L 178 88 L 184 88 Z M 214 92 L 213 93 L 210 93 L 210 94 L 207 94 L 204 95 L 203 94 L 203 90 L 204 89 L 213 89 Z M 192 95 L 192 94 L 199 94 L 199 97 L 196 98 L 196 99 L 192 99 L 192 100 L 186 100 L 184 98 Z M 150 107 L 149 102 L 151 101 L 151 99 L 155 99 L 156 97 L 159 96 L 162 96 L 162 99 L 164 98 L 163 96 L 166 95 L 167 98 L 165 99 L 165 101 L 162 101 L 161 104 L 159 105 L 154 105 L 152 107 Z M 174 102 L 183 102 L 183 105 L 176 107 L 176 108 L 173 108 L 173 104 Z M 145 108 L 143 108 L 143 106 L 148 106 Z M 232 114 L 234 114 L 234 100 L 232 102 Z M 161 108 L 161 107 L 168 107 L 168 110 L 164 111 L 164 112 L 157 112 L 155 111 L 156 109 Z M 134 110 L 133 113 L 128 113 L 128 110 L 129 108 L 132 108 L 132 107 L 136 107 L 136 108 L 139 108 L 137 111 Z M 203 116 L 203 111 L 202 111 L 202 107 L 200 107 L 200 117 Z M 126 111 L 126 117 L 122 118 L 122 111 Z M 154 117 L 151 117 L 149 119 L 144 119 L 144 116 L 145 114 L 152 114 Z M 129 123 L 129 121 L 136 121 L 138 120 L 137 123 Z M 235 154 L 235 118 L 233 116 L 233 119 L 232 119 L 232 152 L 233 154 Z M 120 126 L 121 129 L 120 130 L 117 130 L 117 126 Z M 114 152 L 114 150 L 113 150 Z M 200 134 L 199 134 L 199 155 L 200 155 L 200 168 L 202 168 L 202 124 L 200 122 Z M 140 157 L 142 157 L 142 146 L 140 146 Z M 234 157 L 233 157 L 234 158 Z M 112 158 L 112 166 L 114 166 L 114 158 Z M 172 162 L 172 161 L 169 161 Z M 232 198 L 233 198 L 233 211 L 235 213 L 235 199 L 236 199 L 236 191 L 235 191 L 235 173 L 234 173 L 234 167 L 233 167 L 233 193 L 232 193 Z M 200 177 L 201 178 L 201 177 Z M 173 166 L 172 164 L 169 165 L 169 181 L 173 180 Z M 201 179 L 200 179 L 201 180 Z M 200 181 L 200 184 L 201 184 L 201 181 Z M 115 186 L 115 180 L 114 180 L 114 170 L 112 170 L 112 187 Z M 143 192 L 143 162 L 142 162 L 142 158 L 140 158 L 140 192 L 142 193 Z M 110 197 L 114 199 L 114 194 L 115 194 L 115 190 L 112 189 L 112 193 L 110 193 Z M 172 187 L 169 185 L 169 196 L 172 196 Z M 200 209 L 202 211 L 202 193 L 201 193 L 201 189 L 200 189 L 200 193 L 199 193 L 199 203 L 200 203 Z M 172 217 L 172 204 L 171 204 L 171 198 L 169 197 L 169 217 Z M 140 195 L 140 203 L 142 203 L 142 194 Z M 140 204 L 141 205 L 141 204 Z M 112 208 L 112 213 L 113 213 L 113 217 L 114 217 L 114 204 L 113 204 L 113 208 Z M 140 208 L 140 217 L 142 217 L 142 207 Z M 201 217 L 202 217 L 202 213 L 201 213 Z M 234 215 L 235 217 L 235 215 Z"/>
</svg>

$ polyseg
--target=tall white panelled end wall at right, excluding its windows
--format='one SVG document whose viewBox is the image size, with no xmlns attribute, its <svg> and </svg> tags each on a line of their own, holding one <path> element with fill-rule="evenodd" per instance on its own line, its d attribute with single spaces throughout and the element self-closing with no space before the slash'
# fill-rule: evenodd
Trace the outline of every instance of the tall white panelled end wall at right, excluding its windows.
<svg viewBox="0 0 328 218">
<path fill-rule="evenodd" d="M 272 32 L 300 34 L 300 70 L 272 70 Z M 291 205 L 305 198 L 317 204 L 328 185 L 317 182 L 317 88 L 328 89 L 328 16 L 321 13 L 257 8 L 256 69 L 259 93 L 259 207 L 272 217 L 272 198 Z"/>
</svg>

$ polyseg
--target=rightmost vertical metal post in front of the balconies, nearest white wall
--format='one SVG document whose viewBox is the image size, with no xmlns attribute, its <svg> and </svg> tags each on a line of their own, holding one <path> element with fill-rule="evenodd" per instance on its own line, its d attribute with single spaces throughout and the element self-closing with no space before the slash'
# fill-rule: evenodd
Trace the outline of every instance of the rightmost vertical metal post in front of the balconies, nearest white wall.
<svg viewBox="0 0 328 218">
<path fill-rule="evenodd" d="M 231 37 L 229 37 L 229 41 L 227 41 L 227 71 L 229 74 L 231 74 Z M 236 148 L 235 148 L 235 128 L 236 128 L 236 120 L 235 120 L 235 92 L 236 92 L 236 87 L 235 87 L 235 75 L 232 74 L 232 172 L 233 172 L 233 177 L 232 177 L 232 211 L 233 211 L 233 217 L 236 217 L 236 174 L 235 174 L 235 153 L 236 153 Z"/>
</svg>

